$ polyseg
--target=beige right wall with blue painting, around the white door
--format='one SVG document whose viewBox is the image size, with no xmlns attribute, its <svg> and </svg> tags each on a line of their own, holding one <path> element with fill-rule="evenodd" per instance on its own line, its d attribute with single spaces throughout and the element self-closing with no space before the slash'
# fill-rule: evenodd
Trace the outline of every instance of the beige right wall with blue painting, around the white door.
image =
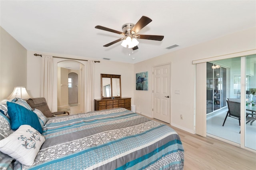
<svg viewBox="0 0 256 170">
<path fill-rule="evenodd" d="M 148 91 L 134 89 L 136 112 L 152 117 L 152 68 L 171 62 L 171 125 L 194 133 L 196 67 L 192 61 L 255 48 L 256 28 L 251 28 L 134 64 L 134 73 L 151 73 L 148 77 Z M 180 94 L 174 94 L 175 90 L 179 90 Z M 206 96 L 206 91 L 201 93 Z M 148 107 L 150 104 L 151 107 Z M 180 119 L 180 114 L 183 115 L 183 120 Z"/>
</svg>

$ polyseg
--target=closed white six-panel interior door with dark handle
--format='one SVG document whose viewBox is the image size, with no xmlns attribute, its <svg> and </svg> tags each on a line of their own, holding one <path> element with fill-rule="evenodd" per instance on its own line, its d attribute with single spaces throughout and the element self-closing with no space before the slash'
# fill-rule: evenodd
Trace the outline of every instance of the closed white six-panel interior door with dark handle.
<svg viewBox="0 0 256 170">
<path fill-rule="evenodd" d="M 170 123 L 170 64 L 153 71 L 153 117 Z"/>
</svg>

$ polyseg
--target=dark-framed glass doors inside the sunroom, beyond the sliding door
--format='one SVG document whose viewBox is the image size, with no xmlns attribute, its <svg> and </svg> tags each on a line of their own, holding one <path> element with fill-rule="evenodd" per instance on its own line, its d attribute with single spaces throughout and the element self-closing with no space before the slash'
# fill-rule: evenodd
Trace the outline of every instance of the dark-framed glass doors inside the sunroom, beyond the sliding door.
<svg viewBox="0 0 256 170">
<path fill-rule="evenodd" d="M 206 114 L 226 106 L 226 68 L 207 63 Z"/>
</svg>

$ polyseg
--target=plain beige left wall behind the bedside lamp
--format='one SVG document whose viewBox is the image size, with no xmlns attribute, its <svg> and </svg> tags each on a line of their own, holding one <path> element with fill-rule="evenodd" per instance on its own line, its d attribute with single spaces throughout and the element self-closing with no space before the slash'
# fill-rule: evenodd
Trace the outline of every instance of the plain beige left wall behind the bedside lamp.
<svg viewBox="0 0 256 170">
<path fill-rule="evenodd" d="M 2 27 L 0 47 L 0 102 L 5 102 L 14 87 L 27 86 L 27 50 Z"/>
</svg>

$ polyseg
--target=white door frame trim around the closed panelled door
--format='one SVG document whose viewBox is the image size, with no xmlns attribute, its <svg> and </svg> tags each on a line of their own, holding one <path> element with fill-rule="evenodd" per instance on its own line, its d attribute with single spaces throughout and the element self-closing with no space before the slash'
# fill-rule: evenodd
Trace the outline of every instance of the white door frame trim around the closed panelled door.
<svg viewBox="0 0 256 170">
<path fill-rule="evenodd" d="M 162 64 L 158 64 L 158 65 L 153 65 L 152 66 L 152 71 L 151 71 L 151 84 L 152 84 L 152 88 L 151 88 L 151 117 L 154 118 L 154 111 L 153 111 L 153 108 L 154 108 L 154 95 L 153 95 L 153 89 L 154 89 L 154 80 L 153 80 L 153 72 L 154 72 L 154 67 L 158 67 L 158 66 L 162 66 L 162 65 L 168 65 L 170 64 L 170 125 L 172 125 L 172 62 L 168 62 L 168 63 L 162 63 Z M 150 77 L 150 76 L 148 76 Z"/>
</svg>

